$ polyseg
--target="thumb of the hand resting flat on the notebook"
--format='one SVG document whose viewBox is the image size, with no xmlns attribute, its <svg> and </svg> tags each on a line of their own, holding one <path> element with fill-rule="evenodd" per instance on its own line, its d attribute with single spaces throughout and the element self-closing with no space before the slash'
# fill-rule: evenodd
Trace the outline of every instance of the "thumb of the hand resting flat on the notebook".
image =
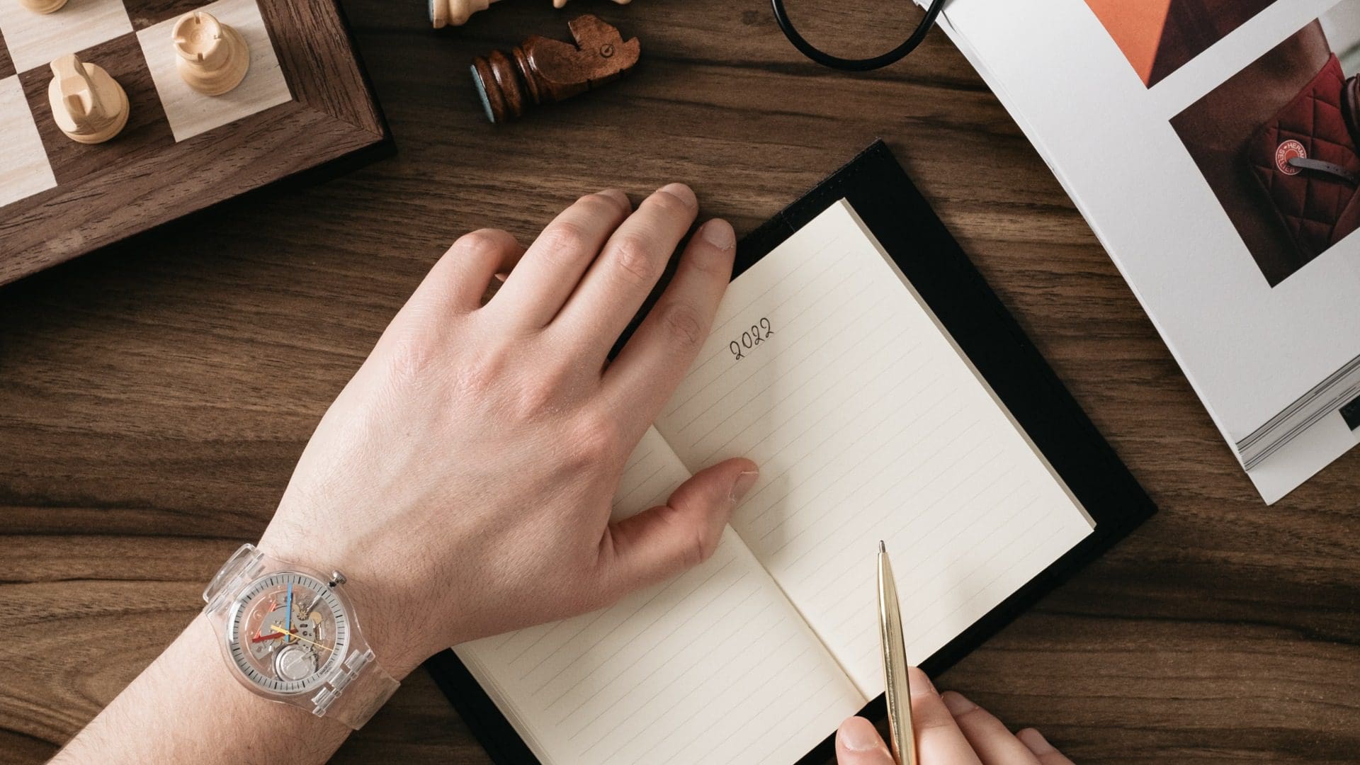
<svg viewBox="0 0 1360 765">
<path fill-rule="evenodd" d="M 753 461 L 726 460 L 681 483 L 665 505 L 609 524 L 607 589 L 620 598 L 706 561 L 718 547 L 732 508 L 759 476 Z"/>
</svg>

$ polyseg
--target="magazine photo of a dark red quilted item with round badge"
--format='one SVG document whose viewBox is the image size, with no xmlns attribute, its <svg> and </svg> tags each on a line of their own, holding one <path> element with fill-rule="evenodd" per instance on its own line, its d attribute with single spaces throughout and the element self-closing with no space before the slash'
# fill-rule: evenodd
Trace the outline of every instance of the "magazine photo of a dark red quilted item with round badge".
<svg viewBox="0 0 1360 765">
<path fill-rule="evenodd" d="M 1360 0 L 1171 120 L 1272 287 L 1360 229 Z"/>
</svg>

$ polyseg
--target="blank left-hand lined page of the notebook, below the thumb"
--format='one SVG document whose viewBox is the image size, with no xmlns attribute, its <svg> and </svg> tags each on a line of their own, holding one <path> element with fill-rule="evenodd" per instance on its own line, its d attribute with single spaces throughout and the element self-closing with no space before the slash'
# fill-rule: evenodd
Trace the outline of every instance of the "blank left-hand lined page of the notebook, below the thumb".
<svg viewBox="0 0 1360 765">
<path fill-rule="evenodd" d="M 687 478 L 649 430 L 615 515 Z M 785 765 L 865 704 L 732 528 L 703 565 L 611 608 L 456 651 L 552 765 Z"/>
</svg>

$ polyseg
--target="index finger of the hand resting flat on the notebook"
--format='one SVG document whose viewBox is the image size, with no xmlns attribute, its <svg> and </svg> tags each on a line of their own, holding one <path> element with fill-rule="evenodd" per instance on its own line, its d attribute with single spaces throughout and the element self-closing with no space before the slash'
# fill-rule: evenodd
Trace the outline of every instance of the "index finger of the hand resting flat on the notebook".
<svg viewBox="0 0 1360 765">
<path fill-rule="evenodd" d="M 737 237 L 713 219 L 690 240 L 676 274 L 657 304 L 604 373 L 604 395 L 635 438 L 670 400 L 709 338 L 722 293 L 732 279 Z"/>
</svg>

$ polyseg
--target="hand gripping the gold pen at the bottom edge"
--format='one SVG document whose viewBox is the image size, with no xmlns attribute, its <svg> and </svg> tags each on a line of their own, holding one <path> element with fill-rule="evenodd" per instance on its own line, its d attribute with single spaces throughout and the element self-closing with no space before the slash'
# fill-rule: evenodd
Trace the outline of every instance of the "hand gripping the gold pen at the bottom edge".
<svg viewBox="0 0 1360 765">
<path fill-rule="evenodd" d="M 919 765 L 1072 765 L 1039 731 L 1012 735 L 1001 720 L 962 694 L 934 689 L 925 672 L 911 668 L 911 717 Z M 850 717 L 836 731 L 838 765 L 892 765 L 892 755 L 873 723 Z"/>
</svg>

